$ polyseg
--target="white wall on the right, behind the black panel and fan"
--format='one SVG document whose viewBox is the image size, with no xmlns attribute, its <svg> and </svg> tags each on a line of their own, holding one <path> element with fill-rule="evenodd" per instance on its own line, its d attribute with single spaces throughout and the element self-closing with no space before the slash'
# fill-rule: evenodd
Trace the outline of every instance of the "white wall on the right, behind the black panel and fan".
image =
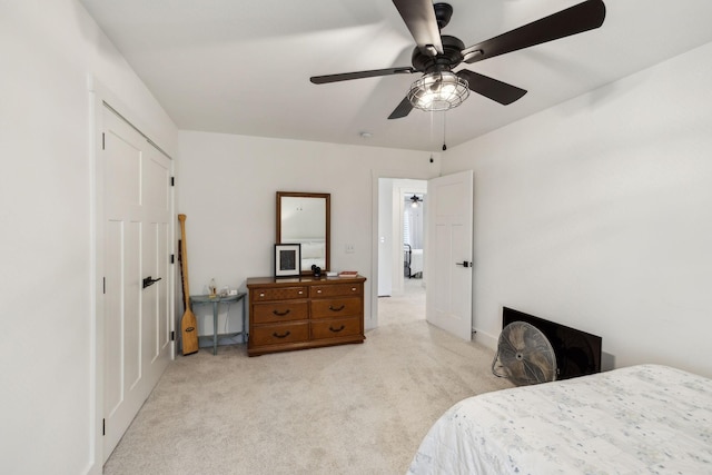
<svg viewBox="0 0 712 475">
<path fill-rule="evenodd" d="M 475 172 L 483 340 L 510 306 L 601 335 L 616 366 L 712 376 L 710 58 L 712 43 L 447 151 L 444 174 Z"/>
</svg>

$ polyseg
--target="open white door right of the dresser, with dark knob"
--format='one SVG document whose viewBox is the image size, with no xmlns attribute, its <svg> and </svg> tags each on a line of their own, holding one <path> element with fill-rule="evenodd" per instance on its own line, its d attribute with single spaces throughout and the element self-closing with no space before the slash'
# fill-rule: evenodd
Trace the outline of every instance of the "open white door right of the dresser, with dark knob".
<svg viewBox="0 0 712 475">
<path fill-rule="evenodd" d="M 426 318 L 472 339 L 473 171 L 427 185 Z"/>
</svg>

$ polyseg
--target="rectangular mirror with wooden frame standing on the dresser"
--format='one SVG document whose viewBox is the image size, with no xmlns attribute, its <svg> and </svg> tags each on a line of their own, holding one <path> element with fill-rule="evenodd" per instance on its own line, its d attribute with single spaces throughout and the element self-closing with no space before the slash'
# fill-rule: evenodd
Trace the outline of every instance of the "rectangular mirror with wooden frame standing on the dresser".
<svg viewBox="0 0 712 475">
<path fill-rule="evenodd" d="M 277 191 L 277 244 L 300 244 L 301 274 L 329 269 L 330 194 Z"/>
</svg>

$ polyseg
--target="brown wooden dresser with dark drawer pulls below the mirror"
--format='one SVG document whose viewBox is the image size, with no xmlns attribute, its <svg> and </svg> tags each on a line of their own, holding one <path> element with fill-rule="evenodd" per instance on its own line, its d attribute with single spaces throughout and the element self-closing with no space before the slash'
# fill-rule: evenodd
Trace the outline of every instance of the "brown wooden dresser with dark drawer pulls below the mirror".
<svg viewBox="0 0 712 475">
<path fill-rule="evenodd" d="M 251 277 L 247 354 L 363 343 L 365 277 Z"/>
</svg>

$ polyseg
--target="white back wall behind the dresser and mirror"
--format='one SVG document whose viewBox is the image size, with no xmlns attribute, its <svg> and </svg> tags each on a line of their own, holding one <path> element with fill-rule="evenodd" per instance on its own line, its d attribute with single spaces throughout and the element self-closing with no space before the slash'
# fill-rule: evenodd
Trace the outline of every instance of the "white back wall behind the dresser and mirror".
<svg viewBox="0 0 712 475">
<path fill-rule="evenodd" d="M 187 216 L 191 294 L 212 277 L 218 288 L 245 290 L 248 277 L 274 275 L 276 192 L 329 192 L 332 269 L 358 270 L 368 278 L 366 326 L 372 325 L 374 177 L 434 177 L 439 161 L 431 162 L 429 154 L 421 151 L 375 147 L 197 131 L 179 137 L 178 201 L 179 212 Z M 355 253 L 345 251 L 347 244 Z M 239 323 L 238 315 L 230 311 L 230 320 Z M 198 326 L 201 334 L 212 328 L 204 316 Z"/>
</svg>

